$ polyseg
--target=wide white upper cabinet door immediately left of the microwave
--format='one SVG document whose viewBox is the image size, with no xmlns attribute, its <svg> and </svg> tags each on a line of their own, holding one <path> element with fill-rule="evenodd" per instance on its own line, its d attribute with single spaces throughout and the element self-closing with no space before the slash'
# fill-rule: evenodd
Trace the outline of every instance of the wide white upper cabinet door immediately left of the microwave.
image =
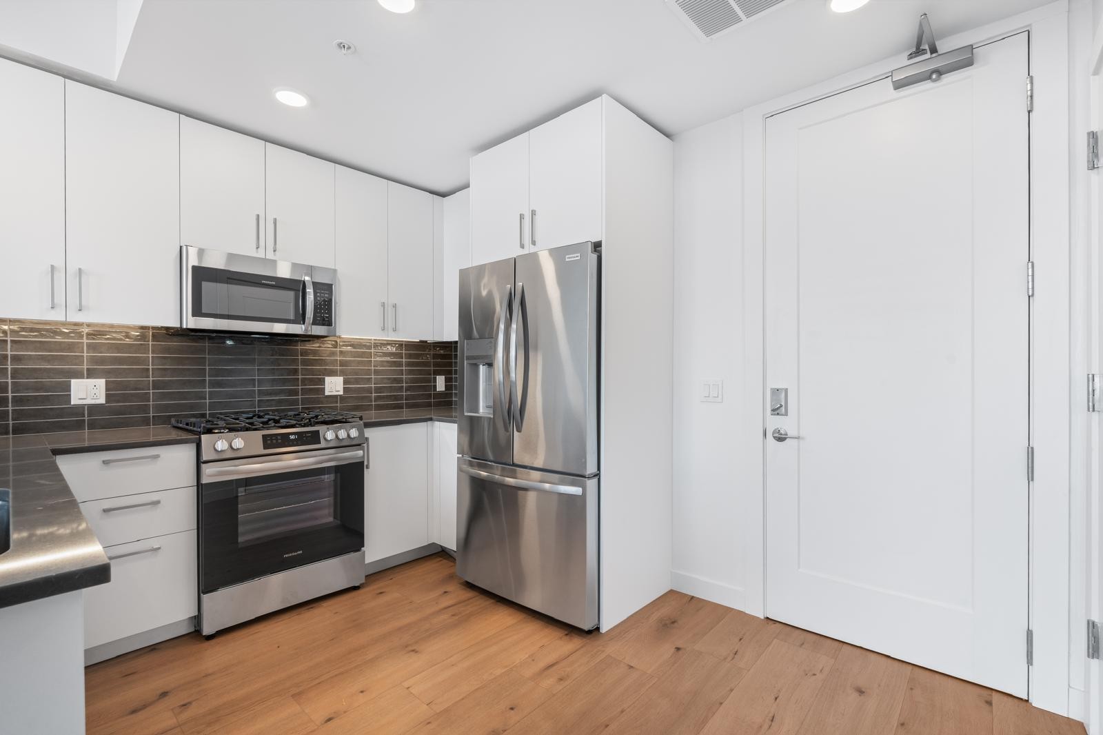
<svg viewBox="0 0 1103 735">
<path fill-rule="evenodd" d="M 65 82 L 68 318 L 180 323 L 180 116 Z"/>
</svg>

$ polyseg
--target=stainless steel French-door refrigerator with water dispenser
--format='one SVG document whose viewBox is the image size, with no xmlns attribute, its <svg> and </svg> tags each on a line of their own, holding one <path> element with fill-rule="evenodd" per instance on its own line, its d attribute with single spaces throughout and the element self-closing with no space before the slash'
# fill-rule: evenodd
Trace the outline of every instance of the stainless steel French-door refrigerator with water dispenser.
<svg viewBox="0 0 1103 735">
<path fill-rule="evenodd" d="M 598 625 L 600 260 L 578 243 L 460 271 L 457 573 L 586 630 Z"/>
</svg>

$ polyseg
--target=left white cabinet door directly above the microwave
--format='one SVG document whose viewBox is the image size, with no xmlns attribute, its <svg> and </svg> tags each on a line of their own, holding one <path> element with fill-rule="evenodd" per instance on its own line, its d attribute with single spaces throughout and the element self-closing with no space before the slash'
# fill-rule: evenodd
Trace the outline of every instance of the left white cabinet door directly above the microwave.
<svg viewBox="0 0 1103 735">
<path fill-rule="evenodd" d="M 180 241 L 265 255 L 265 142 L 180 118 Z"/>
</svg>

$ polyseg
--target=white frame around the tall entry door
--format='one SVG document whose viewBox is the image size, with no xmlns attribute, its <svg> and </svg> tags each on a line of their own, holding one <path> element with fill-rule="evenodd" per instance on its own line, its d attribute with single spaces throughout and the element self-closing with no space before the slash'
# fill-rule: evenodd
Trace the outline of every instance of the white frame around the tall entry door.
<svg viewBox="0 0 1103 735">
<path fill-rule="evenodd" d="M 1034 665 L 1029 668 L 1030 702 L 1068 715 L 1070 701 L 1070 454 L 1075 394 L 1070 350 L 1079 341 L 1072 331 L 1070 299 L 1070 138 L 1069 138 L 1069 4 L 1059 0 L 979 29 L 940 39 L 945 47 L 983 43 L 1021 31 L 1030 32 L 1029 68 L 1035 106 L 1030 118 L 1030 252 L 1035 262 L 1031 303 L 1031 435 L 1035 479 L 1030 487 L 1029 610 Z M 901 40 L 901 49 L 903 49 Z M 765 611 L 765 371 L 764 371 L 764 152 L 769 116 L 845 92 L 884 76 L 903 64 L 903 54 L 870 64 L 828 82 L 779 97 L 743 113 L 742 348 L 748 411 L 737 426 L 736 450 L 745 468 L 737 486 L 745 509 L 739 533 L 746 560 L 743 609 Z M 1026 79 L 1024 79 L 1026 104 Z M 1078 243 L 1079 246 L 1079 243 Z M 1024 287 L 1026 283 L 1024 263 Z M 1083 446 L 1083 437 L 1075 437 Z M 1024 447 L 1024 472 L 1026 470 Z M 1082 491 L 1082 488 L 1080 488 Z M 1024 640 L 1024 656 L 1026 640 Z M 1073 716 L 1080 715 L 1079 712 Z"/>
</svg>

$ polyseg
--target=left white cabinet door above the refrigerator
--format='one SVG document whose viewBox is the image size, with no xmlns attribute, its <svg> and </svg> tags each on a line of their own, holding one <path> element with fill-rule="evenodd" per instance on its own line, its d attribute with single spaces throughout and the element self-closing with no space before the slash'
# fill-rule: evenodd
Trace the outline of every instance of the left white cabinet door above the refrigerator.
<svg viewBox="0 0 1103 735">
<path fill-rule="evenodd" d="M 492 263 L 528 251 L 528 134 L 471 159 L 471 257 Z"/>
</svg>

